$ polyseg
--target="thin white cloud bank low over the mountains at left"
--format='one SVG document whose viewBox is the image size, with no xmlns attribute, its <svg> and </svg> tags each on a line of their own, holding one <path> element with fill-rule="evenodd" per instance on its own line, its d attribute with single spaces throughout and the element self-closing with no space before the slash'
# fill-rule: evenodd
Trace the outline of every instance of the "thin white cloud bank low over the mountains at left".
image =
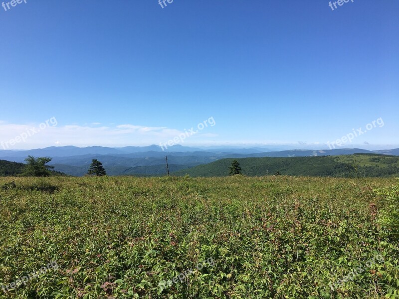
<svg viewBox="0 0 399 299">
<path fill-rule="evenodd" d="M 35 133 L 26 135 L 33 129 Z M 65 125 L 49 124 L 39 129 L 39 124 L 8 124 L 0 121 L 0 149 L 32 149 L 49 146 L 148 146 L 159 145 L 183 134 L 184 131 L 167 127 L 146 127 L 131 124 L 114 126 L 98 125 Z M 200 137 L 215 137 L 216 135 L 198 134 L 188 138 L 184 144 L 196 142 Z M 23 141 L 22 141 L 22 138 Z M 25 138 L 26 137 L 26 138 Z"/>
</svg>

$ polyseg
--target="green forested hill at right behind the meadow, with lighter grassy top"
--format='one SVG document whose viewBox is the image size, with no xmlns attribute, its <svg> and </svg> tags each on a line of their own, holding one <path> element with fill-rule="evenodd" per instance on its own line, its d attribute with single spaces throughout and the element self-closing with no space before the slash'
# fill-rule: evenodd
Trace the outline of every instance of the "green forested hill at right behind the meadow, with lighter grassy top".
<svg viewBox="0 0 399 299">
<path fill-rule="evenodd" d="M 233 158 L 176 171 L 174 175 L 227 176 Z M 381 154 L 353 154 L 314 157 L 263 157 L 237 159 L 242 174 L 248 176 L 283 175 L 388 177 L 399 174 L 399 157 Z"/>
</svg>

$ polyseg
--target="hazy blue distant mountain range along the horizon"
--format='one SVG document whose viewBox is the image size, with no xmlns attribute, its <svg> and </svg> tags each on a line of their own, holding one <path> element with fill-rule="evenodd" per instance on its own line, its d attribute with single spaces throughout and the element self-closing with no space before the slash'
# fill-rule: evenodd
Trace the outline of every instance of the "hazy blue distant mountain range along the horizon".
<svg viewBox="0 0 399 299">
<path fill-rule="evenodd" d="M 54 170 L 70 175 L 81 176 L 87 172 L 92 159 L 100 160 L 109 175 L 162 175 L 166 173 L 165 155 L 168 155 L 171 172 L 183 171 L 198 165 L 211 163 L 225 158 L 250 157 L 309 157 L 335 156 L 354 153 L 378 153 L 399 155 L 399 149 L 374 150 L 367 149 L 292 149 L 283 151 L 267 151 L 262 148 L 191 148 L 180 145 L 169 147 L 163 151 L 161 147 L 87 147 L 78 148 L 49 147 L 30 150 L 0 150 L 0 159 L 23 162 L 28 155 L 52 157 Z"/>
</svg>

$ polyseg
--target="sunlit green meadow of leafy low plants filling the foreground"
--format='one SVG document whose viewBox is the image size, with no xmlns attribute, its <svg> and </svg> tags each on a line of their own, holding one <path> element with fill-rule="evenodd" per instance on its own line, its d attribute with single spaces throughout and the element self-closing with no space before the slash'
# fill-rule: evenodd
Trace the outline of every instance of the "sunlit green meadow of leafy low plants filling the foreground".
<svg viewBox="0 0 399 299">
<path fill-rule="evenodd" d="M 386 206 L 373 191 L 396 182 L 0 178 L 0 287 L 59 267 L 0 298 L 398 298 L 399 244 L 377 225 Z M 383 263 L 331 290 L 378 254 Z"/>
</svg>

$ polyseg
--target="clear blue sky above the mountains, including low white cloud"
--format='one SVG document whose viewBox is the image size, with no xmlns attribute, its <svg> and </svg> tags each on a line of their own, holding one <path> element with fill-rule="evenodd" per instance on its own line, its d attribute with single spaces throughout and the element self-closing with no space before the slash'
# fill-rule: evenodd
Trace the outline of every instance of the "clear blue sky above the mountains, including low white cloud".
<svg viewBox="0 0 399 299">
<path fill-rule="evenodd" d="M 328 4 L 0 7 L 0 141 L 54 117 L 8 149 L 159 144 L 213 117 L 183 145 L 326 148 L 381 118 L 344 146 L 398 147 L 399 2 Z"/>
</svg>

